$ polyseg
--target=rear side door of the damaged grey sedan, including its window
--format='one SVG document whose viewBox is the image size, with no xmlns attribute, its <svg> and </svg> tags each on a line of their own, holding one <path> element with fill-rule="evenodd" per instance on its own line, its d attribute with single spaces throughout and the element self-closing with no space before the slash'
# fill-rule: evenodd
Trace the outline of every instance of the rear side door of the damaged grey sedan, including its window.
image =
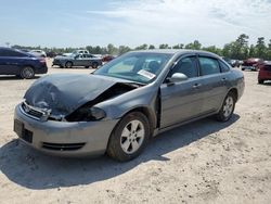
<svg viewBox="0 0 271 204">
<path fill-rule="evenodd" d="M 202 91 L 204 93 L 203 113 L 220 109 L 228 92 L 230 68 L 222 61 L 207 55 L 198 55 Z"/>
</svg>

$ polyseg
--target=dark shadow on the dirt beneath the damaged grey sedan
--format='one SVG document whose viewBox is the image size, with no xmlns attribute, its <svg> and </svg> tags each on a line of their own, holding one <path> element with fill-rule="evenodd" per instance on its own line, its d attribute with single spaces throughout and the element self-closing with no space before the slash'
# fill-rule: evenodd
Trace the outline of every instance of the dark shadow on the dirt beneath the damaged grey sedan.
<svg viewBox="0 0 271 204">
<path fill-rule="evenodd" d="M 129 171 L 149 161 L 169 161 L 165 154 L 228 128 L 240 116 L 227 123 L 211 118 L 180 126 L 155 137 L 136 160 L 119 163 L 106 155 L 98 158 L 61 158 L 39 153 L 15 139 L 0 148 L 0 170 L 11 181 L 28 189 L 54 189 L 89 184 Z"/>
</svg>

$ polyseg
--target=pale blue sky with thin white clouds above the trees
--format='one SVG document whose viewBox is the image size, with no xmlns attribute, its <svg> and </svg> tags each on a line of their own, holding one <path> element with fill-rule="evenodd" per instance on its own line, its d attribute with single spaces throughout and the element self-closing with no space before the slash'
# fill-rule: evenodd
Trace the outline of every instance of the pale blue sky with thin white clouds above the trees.
<svg viewBox="0 0 271 204">
<path fill-rule="evenodd" d="M 0 0 L 0 46 L 189 43 L 271 39 L 271 0 Z"/>
</svg>

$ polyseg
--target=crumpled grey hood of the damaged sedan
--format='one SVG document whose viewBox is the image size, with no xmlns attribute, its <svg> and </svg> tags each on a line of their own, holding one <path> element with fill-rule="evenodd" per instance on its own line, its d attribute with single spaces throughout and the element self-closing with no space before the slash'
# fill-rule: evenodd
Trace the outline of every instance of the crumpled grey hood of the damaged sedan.
<svg viewBox="0 0 271 204">
<path fill-rule="evenodd" d="M 67 115 L 117 82 L 98 75 L 54 74 L 36 80 L 24 98 L 29 105 L 51 110 L 53 115 Z"/>
</svg>

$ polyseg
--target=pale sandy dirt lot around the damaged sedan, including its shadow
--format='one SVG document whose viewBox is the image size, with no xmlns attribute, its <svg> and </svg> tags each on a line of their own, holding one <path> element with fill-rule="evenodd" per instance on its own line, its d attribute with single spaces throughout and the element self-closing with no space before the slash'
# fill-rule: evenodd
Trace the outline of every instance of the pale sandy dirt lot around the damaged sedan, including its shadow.
<svg viewBox="0 0 271 204">
<path fill-rule="evenodd" d="M 90 69 L 49 69 L 61 72 Z M 173 129 L 117 163 L 51 157 L 20 142 L 13 111 L 35 79 L 0 77 L 0 203 L 271 203 L 271 82 L 245 78 L 232 120 Z"/>
</svg>

